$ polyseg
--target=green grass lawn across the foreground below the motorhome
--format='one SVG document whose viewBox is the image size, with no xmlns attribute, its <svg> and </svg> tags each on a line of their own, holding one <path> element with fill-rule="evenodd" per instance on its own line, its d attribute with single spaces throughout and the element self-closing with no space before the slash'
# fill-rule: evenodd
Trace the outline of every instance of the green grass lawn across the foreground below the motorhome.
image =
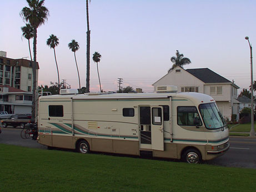
<svg viewBox="0 0 256 192">
<path fill-rule="evenodd" d="M 255 191 L 255 169 L 0 144 L 0 191 Z"/>
</svg>

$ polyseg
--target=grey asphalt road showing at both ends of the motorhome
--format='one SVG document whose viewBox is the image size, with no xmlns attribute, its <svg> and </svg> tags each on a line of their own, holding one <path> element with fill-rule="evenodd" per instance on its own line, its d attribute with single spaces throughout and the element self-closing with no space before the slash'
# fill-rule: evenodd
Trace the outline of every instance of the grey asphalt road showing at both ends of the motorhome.
<svg viewBox="0 0 256 192">
<path fill-rule="evenodd" d="M 32 139 L 22 139 L 18 128 L 2 128 L 0 143 L 47 149 L 46 146 Z M 205 164 L 256 169 L 256 138 L 230 137 L 230 149 L 216 159 Z"/>
</svg>

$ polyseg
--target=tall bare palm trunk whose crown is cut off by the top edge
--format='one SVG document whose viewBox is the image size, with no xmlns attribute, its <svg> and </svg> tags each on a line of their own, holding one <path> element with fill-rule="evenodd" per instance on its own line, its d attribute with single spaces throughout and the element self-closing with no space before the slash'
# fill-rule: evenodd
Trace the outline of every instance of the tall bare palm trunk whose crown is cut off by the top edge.
<svg viewBox="0 0 256 192">
<path fill-rule="evenodd" d="M 91 0 L 89 0 L 91 3 Z M 86 51 L 86 92 L 90 92 L 90 28 L 89 28 L 89 8 L 88 0 L 86 0 L 86 18 L 87 18 L 87 51 Z"/>
</svg>

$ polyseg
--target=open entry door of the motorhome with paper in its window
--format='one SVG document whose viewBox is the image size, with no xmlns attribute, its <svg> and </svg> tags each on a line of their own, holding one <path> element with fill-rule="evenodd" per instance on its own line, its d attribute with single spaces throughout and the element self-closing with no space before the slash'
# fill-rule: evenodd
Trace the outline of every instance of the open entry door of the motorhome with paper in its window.
<svg viewBox="0 0 256 192">
<path fill-rule="evenodd" d="M 164 150 L 163 107 L 151 107 L 152 149 Z"/>
</svg>

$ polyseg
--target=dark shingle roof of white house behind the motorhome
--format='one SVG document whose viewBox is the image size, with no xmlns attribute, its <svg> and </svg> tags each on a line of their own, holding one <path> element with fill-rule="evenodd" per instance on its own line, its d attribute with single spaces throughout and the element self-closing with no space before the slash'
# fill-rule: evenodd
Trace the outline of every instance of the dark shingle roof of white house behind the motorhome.
<svg viewBox="0 0 256 192">
<path fill-rule="evenodd" d="M 232 83 L 230 80 L 220 76 L 208 68 L 186 69 L 186 71 L 204 83 Z"/>
</svg>

